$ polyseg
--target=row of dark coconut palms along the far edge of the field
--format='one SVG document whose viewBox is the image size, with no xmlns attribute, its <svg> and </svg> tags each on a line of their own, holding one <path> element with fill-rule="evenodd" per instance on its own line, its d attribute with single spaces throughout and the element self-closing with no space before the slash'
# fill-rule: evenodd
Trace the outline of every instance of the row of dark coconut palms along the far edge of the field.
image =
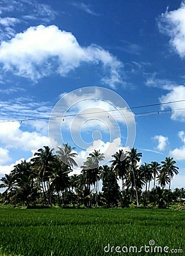
<svg viewBox="0 0 185 256">
<path fill-rule="evenodd" d="M 1 203 L 16 205 L 70 205 L 71 207 L 159 207 L 185 198 L 183 188 L 171 191 L 171 180 L 178 174 L 173 158 L 161 163 L 138 166 L 142 157 L 136 148 L 112 155 L 110 166 L 100 166 L 104 154 L 94 150 L 81 166 L 81 173 L 71 174 L 74 148 L 58 147 L 57 154 L 48 146 L 40 148 L 30 162 L 14 166 L 1 179 Z M 118 180 L 121 182 L 118 183 Z M 153 187 L 150 183 L 153 180 Z M 159 186 L 156 186 L 158 182 Z M 119 186 L 119 184 L 121 184 Z M 168 188 L 166 186 L 168 185 Z M 166 188 L 166 189 L 165 189 Z"/>
</svg>

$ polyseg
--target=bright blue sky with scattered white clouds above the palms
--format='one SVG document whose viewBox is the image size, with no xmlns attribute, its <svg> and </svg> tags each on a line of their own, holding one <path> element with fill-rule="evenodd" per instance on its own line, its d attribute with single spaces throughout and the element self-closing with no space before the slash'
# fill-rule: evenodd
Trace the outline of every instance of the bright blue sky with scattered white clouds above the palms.
<svg viewBox="0 0 185 256">
<path fill-rule="evenodd" d="M 0 0 L 0 41 L 0 177 L 47 145 L 78 166 L 134 146 L 185 186 L 185 1 Z"/>
</svg>

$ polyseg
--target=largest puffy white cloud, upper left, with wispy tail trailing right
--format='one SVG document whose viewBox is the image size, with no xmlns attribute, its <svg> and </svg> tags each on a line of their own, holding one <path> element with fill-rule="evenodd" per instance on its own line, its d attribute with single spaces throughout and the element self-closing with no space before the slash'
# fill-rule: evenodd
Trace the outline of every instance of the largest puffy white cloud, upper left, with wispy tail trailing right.
<svg viewBox="0 0 185 256">
<path fill-rule="evenodd" d="M 81 63 L 103 64 L 104 84 L 123 83 L 122 63 L 99 46 L 82 47 L 75 36 L 57 26 L 30 27 L 0 46 L 0 63 L 7 71 L 37 81 L 51 72 L 65 76 Z"/>
</svg>

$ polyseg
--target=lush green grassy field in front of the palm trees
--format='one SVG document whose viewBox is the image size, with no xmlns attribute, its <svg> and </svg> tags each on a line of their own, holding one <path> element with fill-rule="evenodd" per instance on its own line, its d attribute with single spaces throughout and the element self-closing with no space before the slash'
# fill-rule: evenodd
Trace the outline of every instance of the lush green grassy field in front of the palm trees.
<svg viewBox="0 0 185 256">
<path fill-rule="evenodd" d="M 0 209 L 0 255 L 184 255 L 185 212 L 158 209 Z M 154 246 L 183 253 L 151 253 Z M 152 243 L 152 242 L 150 242 Z M 104 247 L 110 244 L 109 252 Z M 111 247 L 112 253 L 111 253 Z M 108 251 L 109 247 L 106 247 Z M 152 249 L 151 249 L 152 248 Z M 126 248 L 124 247 L 124 251 Z"/>
</svg>

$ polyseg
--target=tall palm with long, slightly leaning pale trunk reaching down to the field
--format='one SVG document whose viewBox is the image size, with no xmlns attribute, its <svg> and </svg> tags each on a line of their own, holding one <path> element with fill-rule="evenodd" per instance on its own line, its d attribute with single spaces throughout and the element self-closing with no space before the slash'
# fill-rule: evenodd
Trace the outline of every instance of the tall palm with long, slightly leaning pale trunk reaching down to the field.
<svg viewBox="0 0 185 256">
<path fill-rule="evenodd" d="M 141 152 L 137 153 L 137 148 L 131 148 L 131 151 L 127 152 L 128 153 L 128 162 L 131 163 L 131 170 L 133 174 L 133 182 L 134 182 L 134 189 L 136 192 L 136 201 L 137 201 L 137 207 L 139 206 L 138 204 L 138 196 L 137 196 L 137 188 L 136 188 L 136 178 L 134 175 L 134 172 L 136 172 L 137 169 L 137 163 L 140 161 L 140 158 L 142 156 Z"/>
</svg>

